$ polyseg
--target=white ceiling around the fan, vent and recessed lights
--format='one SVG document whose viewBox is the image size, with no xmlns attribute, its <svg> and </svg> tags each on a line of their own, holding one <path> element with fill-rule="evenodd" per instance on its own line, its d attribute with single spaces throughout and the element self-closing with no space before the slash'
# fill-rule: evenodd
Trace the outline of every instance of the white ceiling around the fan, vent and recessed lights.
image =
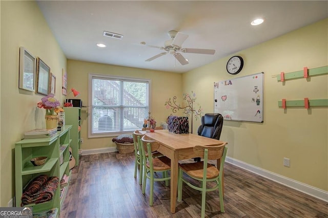
<svg viewBox="0 0 328 218">
<path fill-rule="evenodd" d="M 328 1 L 37 1 L 68 59 L 169 72 L 187 72 L 328 17 Z M 264 23 L 251 26 L 254 18 Z M 163 50 L 168 31 L 189 35 L 183 48 L 215 49 L 214 55 L 182 53 L 181 66 Z M 124 35 L 115 39 L 104 31 Z M 98 48 L 96 43 L 106 48 Z"/>
</svg>

